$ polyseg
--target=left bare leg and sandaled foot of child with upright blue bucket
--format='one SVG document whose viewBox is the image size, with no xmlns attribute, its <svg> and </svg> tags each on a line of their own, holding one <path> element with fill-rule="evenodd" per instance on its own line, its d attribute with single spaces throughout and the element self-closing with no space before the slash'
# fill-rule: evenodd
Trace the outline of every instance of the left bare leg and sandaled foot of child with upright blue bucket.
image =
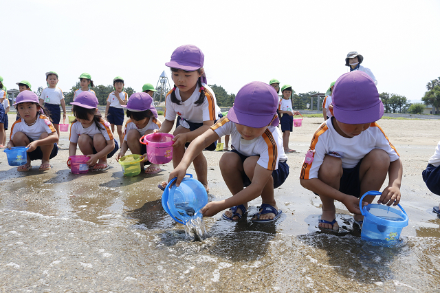
<svg viewBox="0 0 440 293">
<path fill-rule="evenodd" d="M 318 179 L 335 188 L 336 190 L 339 190 L 340 180 L 343 173 L 344 170 L 342 169 L 342 160 L 340 158 L 332 157 L 331 155 L 326 155 L 318 171 Z M 330 222 L 333 221 L 333 219 L 336 219 L 336 207 L 334 199 L 325 197 L 323 195 L 320 195 L 319 197 L 322 202 L 321 219 Z M 327 223 L 320 223 L 318 224 L 318 227 L 327 229 L 333 228 L 333 230 L 339 229 L 337 222 L 333 224 L 333 227 L 331 224 Z"/>
</svg>

